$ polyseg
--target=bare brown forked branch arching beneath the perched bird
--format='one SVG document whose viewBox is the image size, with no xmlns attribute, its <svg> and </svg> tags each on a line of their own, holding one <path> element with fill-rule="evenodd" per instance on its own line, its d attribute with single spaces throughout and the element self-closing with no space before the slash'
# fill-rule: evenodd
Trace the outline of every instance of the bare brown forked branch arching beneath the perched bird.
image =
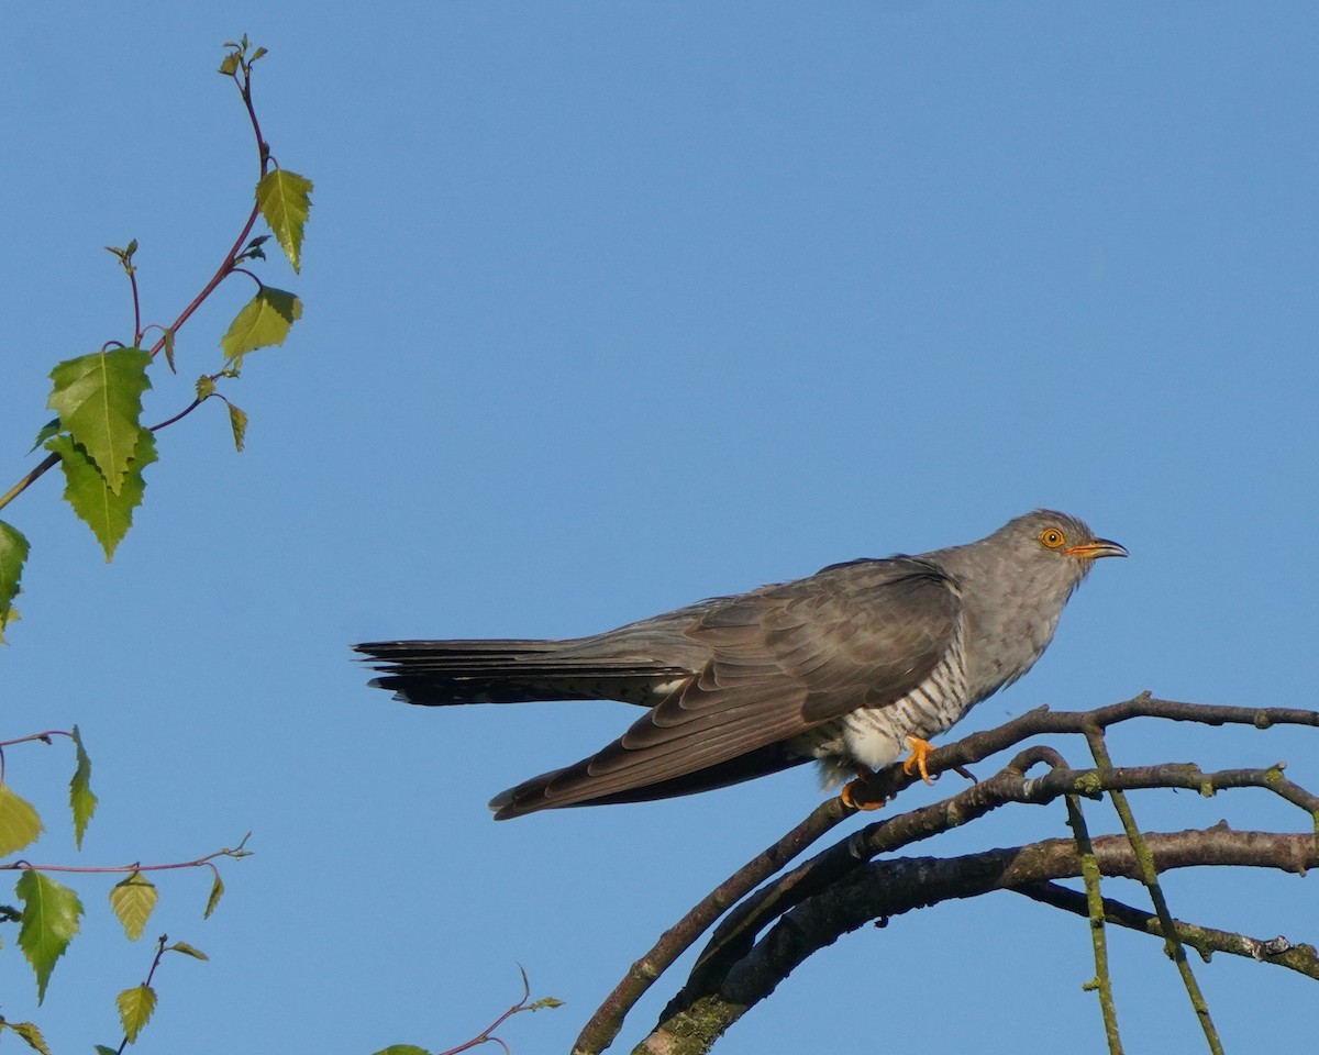
<svg viewBox="0 0 1319 1055">
<path fill-rule="evenodd" d="M 1299 708 L 1215 707 L 1159 700 L 1141 694 L 1095 711 L 1031 711 L 996 729 L 975 733 L 940 748 L 930 756 L 930 768 L 934 771 L 947 771 L 980 762 L 1041 733 L 1088 735 L 1093 738 L 1096 732 L 1101 733 L 1111 725 L 1145 717 L 1206 725 L 1252 725 L 1261 729 L 1272 725 L 1319 725 L 1319 712 Z M 1050 770 L 1028 777 L 1028 771 L 1041 764 L 1049 765 Z M 890 766 L 873 778 L 864 797 L 893 797 L 914 779 L 901 766 Z M 1051 897 L 1062 899 L 1064 895 L 1045 885 L 1082 874 L 1082 859 L 1074 839 L 1045 840 L 1013 851 L 942 861 L 921 859 L 919 864 L 892 860 L 874 862 L 877 855 L 923 841 L 1012 803 L 1039 806 L 1064 797 L 1103 798 L 1113 793 L 1153 787 L 1190 789 L 1204 795 L 1239 787 L 1262 787 L 1303 810 L 1310 819 L 1304 832 L 1290 835 L 1233 832 L 1220 827 L 1145 836 L 1155 873 L 1167 868 L 1225 864 L 1303 872 L 1316 861 L 1319 836 L 1314 832 L 1319 831 L 1319 797 L 1283 777 L 1282 764 L 1269 769 L 1206 773 L 1187 764 L 1111 768 L 1105 756 L 1093 769 L 1071 769 L 1051 748 L 1026 748 L 993 777 L 940 802 L 889 815 L 790 872 L 778 874 L 787 861 L 852 812 L 839 799 L 822 803 L 782 840 L 720 884 L 630 967 L 583 1029 L 574 1046 L 574 1055 L 595 1055 L 607 1048 L 621 1029 L 624 1015 L 641 994 L 724 913 L 727 917 L 716 928 L 691 977 L 670 1002 L 656 1033 L 637 1051 L 662 1050 L 667 1055 L 707 1051 L 724 1029 L 773 992 L 802 957 L 868 919 L 954 897 L 977 897 L 993 889 L 1022 889 L 1037 899 L 1046 899 L 1042 891 L 1049 890 Z M 1136 841 L 1137 845 L 1142 844 L 1140 839 Z M 1140 878 L 1136 869 L 1141 855 L 1133 849 L 1129 836 L 1109 836 L 1095 840 L 1092 845 L 1103 876 Z M 1009 869 L 1005 860 L 995 855 L 1008 855 L 1016 864 Z M 934 868 L 938 868 L 946 889 L 929 885 L 930 869 Z M 766 884 L 776 874 L 778 877 Z M 910 886 L 915 874 L 925 878 Z M 874 876 L 881 878 L 876 881 Z M 904 902 L 902 890 L 919 899 Z M 1075 891 L 1068 891 L 1071 893 Z M 1097 911 L 1095 906 L 1086 907 L 1084 895 L 1076 897 L 1080 898 L 1082 911 Z M 1109 901 L 1103 899 L 1103 905 L 1107 910 Z M 1074 905 L 1059 907 L 1075 911 Z M 1141 915 L 1140 910 L 1125 907 L 1128 911 L 1115 911 L 1113 922 L 1136 926 L 1132 914 Z M 785 917 L 790 917 L 791 922 L 781 926 Z M 847 923 L 835 927 L 839 920 Z M 831 927 L 835 928 L 831 931 Z M 1167 935 L 1163 934 L 1163 923 L 1151 927 L 1148 922 L 1141 922 L 1138 928 L 1174 942 L 1182 938 L 1182 927 L 1177 924 Z M 1231 947 L 1229 951 L 1244 950 L 1245 955 L 1253 955 L 1250 950 L 1260 951 L 1268 946 L 1258 939 L 1227 931 L 1203 927 L 1194 930 L 1196 940 L 1187 944 L 1202 953 Z M 1285 944 L 1286 948 L 1279 955 L 1286 959 L 1287 965 L 1308 973 L 1306 964 L 1314 959 L 1311 952 L 1304 951 L 1308 947 Z"/>
</svg>

